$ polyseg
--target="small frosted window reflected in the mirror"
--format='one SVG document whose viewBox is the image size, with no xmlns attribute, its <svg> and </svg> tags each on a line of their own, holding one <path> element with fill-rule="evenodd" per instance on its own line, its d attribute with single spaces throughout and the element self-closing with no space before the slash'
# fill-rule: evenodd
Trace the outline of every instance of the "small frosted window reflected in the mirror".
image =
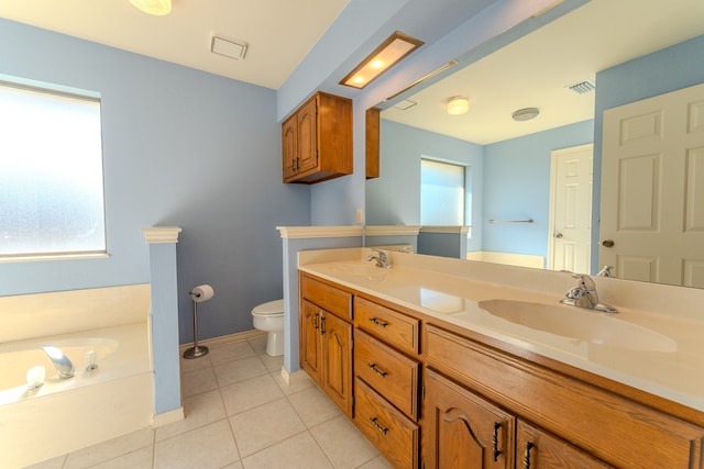
<svg viewBox="0 0 704 469">
<path fill-rule="evenodd" d="M 420 160 L 420 224 L 459 226 L 465 217 L 469 191 L 465 166 L 431 159 Z M 466 205 L 465 205 L 466 204 Z"/>
</svg>

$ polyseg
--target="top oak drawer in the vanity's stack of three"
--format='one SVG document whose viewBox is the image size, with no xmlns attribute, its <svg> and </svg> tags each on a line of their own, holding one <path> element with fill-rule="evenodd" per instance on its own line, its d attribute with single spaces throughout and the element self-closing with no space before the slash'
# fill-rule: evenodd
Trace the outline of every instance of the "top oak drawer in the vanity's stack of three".
<svg viewBox="0 0 704 469">
<path fill-rule="evenodd" d="M 404 351 L 418 354 L 420 321 L 354 297 L 354 325 Z"/>
</svg>

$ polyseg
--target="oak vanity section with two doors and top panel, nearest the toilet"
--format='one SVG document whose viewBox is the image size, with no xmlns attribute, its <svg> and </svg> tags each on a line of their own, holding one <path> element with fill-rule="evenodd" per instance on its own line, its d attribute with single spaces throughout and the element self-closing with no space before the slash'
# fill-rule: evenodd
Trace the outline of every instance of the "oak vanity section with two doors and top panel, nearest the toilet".
<svg viewBox="0 0 704 469">
<path fill-rule="evenodd" d="M 301 277 L 300 367 L 352 418 L 352 295 Z"/>
</svg>

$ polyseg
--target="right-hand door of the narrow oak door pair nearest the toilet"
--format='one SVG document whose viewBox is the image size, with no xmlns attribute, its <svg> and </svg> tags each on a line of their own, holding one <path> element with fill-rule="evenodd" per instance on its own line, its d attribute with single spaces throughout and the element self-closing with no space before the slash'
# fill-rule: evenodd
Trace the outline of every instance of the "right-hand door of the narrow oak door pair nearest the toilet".
<svg viewBox="0 0 704 469">
<path fill-rule="evenodd" d="M 326 393 L 352 418 L 352 324 L 323 313 L 320 324 Z"/>
</svg>

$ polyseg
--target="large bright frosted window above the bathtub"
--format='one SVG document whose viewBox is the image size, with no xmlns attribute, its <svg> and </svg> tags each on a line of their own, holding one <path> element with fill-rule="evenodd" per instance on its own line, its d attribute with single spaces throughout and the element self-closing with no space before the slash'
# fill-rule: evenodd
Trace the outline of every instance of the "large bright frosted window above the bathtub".
<svg viewBox="0 0 704 469">
<path fill-rule="evenodd" d="M 106 254 L 100 100 L 0 81 L 0 258 Z"/>
</svg>

